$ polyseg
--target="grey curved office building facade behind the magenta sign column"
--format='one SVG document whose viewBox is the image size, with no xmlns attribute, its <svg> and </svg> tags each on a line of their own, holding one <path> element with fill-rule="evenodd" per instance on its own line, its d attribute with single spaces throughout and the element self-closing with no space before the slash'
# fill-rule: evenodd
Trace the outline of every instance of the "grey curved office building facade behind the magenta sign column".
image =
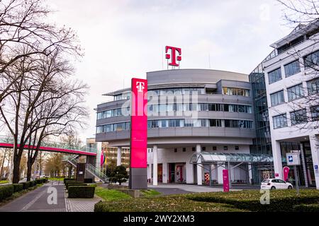
<svg viewBox="0 0 319 226">
<path fill-rule="evenodd" d="M 202 184 L 207 172 L 223 184 L 225 165 L 193 165 L 198 152 L 250 153 L 255 138 L 252 88 L 242 73 L 175 69 L 147 73 L 147 177 L 157 182 Z M 130 88 L 105 95 L 97 106 L 96 141 L 130 145 Z M 154 167 L 155 166 L 155 167 Z M 250 183 L 250 165 L 231 170 L 233 183 Z"/>
</svg>

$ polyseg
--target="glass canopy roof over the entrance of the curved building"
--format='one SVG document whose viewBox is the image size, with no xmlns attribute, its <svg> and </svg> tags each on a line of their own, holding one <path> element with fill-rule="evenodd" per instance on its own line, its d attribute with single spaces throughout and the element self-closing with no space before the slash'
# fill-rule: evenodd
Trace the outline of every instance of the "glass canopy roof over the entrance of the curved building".
<svg viewBox="0 0 319 226">
<path fill-rule="evenodd" d="M 213 153 L 201 152 L 191 155 L 191 164 L 205 164 L 213 162 L 274 162 L 272 155 L 244 154 L 244 153 Z"/>
</svg>

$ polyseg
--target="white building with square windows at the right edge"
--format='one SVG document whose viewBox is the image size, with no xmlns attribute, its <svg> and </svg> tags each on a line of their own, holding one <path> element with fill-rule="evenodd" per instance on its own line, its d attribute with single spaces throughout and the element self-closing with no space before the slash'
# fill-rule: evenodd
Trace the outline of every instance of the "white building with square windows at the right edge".
<svg viewBox="0 0 319 226">
<path fill-rule="evenodd" d="M 287 152 L 301 150 L 302 164 L 298 167 L 301 185 L 316 186 L 317 189 L 318 32 L 318 20 L 308 25 L 298 25 L 289 35 L 271 45 L 274 51 L 251 74 L 264 74 L 274 176 L 282 179 Z M 294 178 L 292 170 L 289 177 Z"/>
</svg>

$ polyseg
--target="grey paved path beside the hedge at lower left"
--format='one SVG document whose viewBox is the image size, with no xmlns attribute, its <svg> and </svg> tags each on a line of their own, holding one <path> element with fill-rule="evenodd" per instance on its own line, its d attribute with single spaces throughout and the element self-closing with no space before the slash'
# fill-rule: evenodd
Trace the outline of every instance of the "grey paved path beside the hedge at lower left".
<svg viewBox="0 0 319 226">
<path fill-rule="evenodd" d="M 52 189 L 53 188 L 53 189 Z M 52 197 L 52 190 L 57 189 L 57 203 L 48 203 L 47 198 Z M 50 192 L 50 193 L 49 193 Z M 52 198 L 49 198 L 52 201 Z M 65 191 L 63 183 L 48 182 L 43 186 L 16 198 L 1 206 L 0 212 L 66 212 Z"/>
</svg>

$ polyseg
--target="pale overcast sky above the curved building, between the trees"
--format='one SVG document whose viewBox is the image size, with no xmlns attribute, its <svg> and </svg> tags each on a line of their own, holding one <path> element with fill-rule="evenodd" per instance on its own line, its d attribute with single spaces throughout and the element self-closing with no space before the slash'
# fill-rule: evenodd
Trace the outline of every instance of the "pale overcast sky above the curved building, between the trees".
<svg viewBox="0 0 319 226">
<path fill-rule="evenodd" d="M 86 97 L 94 137 L 94 108 L 109 100 L 103 93 L 126 88 L 133 76 L 166 69 L 164 46 L 180 47 L 181 69 L 250 73 L 272 51 L 269 44 L 287 35 L 275 0 L 54 0 L 47 4 L 58 25 L 77 31 L 85 51 L 75 65 L 77 78 L 90 86 Z M 210 59 L 210 61 L 209 61 Z M 165 63 L 165 61 L 164 61 Z"/>
</svg>

